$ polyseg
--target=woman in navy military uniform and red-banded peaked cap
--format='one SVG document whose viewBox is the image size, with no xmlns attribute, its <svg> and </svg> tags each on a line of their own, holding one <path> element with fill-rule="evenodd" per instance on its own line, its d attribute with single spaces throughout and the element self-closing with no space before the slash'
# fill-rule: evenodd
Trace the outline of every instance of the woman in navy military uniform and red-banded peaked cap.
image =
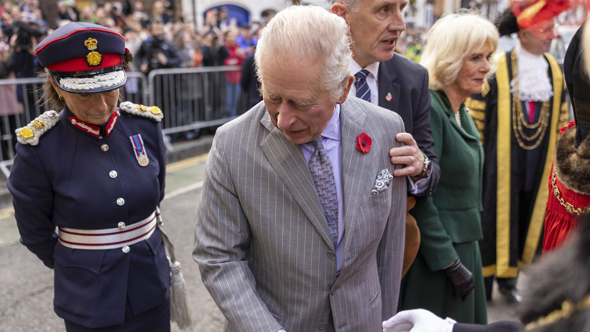
<svg viewBox="0 0 590 332">
<path fill-rule="evenodd" d="M 119 103 L 124 38 L 72 22 L 35 50 L 48 111 L 17 129 L 8 188 L 21 243 L 55 270 L 69 331 L 169 331 L 170 266 L 156 210 L 164 196 L 159 108 Z M 55 227 L 58 232 L 55 232 Z"/>
</svg>

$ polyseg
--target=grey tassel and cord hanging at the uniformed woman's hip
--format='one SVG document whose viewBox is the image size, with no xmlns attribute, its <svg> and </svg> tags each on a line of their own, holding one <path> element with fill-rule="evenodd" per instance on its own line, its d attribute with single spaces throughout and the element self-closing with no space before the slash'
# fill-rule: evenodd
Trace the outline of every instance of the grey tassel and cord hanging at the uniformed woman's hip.
<svg viewBox="0 0 590 332">
<path fill-rule="evenodd" d="M 178 328 L 185 330 L 193 326 L 194 322 L 188 306 L 188 295 L 186 294 L 186 284 L 181 272 L 181 263 L 176 261 L 174 245 L 162 228 L 162 217 L 160 217 L 159 208 L 156 208 L 156 216 L 158 216 L 158 225 L 160 232 L 162 232 L 162 239 L 166 251 L 168 251 L 168 261 L 170 263 L 170 320 L 176 322 Z"/>
</svg>

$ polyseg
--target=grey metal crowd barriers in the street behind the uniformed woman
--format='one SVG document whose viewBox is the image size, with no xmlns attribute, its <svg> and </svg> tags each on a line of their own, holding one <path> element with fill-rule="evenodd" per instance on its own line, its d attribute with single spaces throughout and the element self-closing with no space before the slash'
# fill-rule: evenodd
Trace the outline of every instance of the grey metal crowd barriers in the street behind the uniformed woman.
<svg viewBox="0 0 590 332">
<path fill-rule="evenodd" d="M 123 100 L 162 109 L 163 134 L 171 151 L 171 139 L 189 138 L 248 110 L 240 70 L 240 66 L 156 69 L 148 77 L 129 71 Z M 50 110 L 47 103 L 39 102 L 44 83 L 45 79 L 36 77 L 0 80 L 0 171 L 6 177 L 15 155 L 14 130 Z"/>
</svg>

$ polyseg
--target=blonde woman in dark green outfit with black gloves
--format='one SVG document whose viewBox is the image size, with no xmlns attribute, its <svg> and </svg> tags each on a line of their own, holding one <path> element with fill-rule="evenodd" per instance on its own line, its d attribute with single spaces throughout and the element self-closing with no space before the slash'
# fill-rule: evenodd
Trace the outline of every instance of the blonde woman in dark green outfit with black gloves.
<svg viewBox="0 0 590 332">
<path fill-rule="evenodd" d="M 487 323 L 477 243 L 483 237 L 483 150 L 464 101 L 481 92 L 497 44 L 494 25 L 467 12 L 439 19 L 428 32 L 420 63 L 430 80 L 430 127 L 441 180 L 410 211 L 421 243 L 402 281 L 401 310 L 424 308 L 460 323 Z"/>
</svg>

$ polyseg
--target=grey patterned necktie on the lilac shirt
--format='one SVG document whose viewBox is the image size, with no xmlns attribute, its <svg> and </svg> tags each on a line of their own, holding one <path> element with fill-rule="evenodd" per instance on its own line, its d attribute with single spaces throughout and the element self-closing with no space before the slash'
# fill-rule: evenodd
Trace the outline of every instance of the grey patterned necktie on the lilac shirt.
<svg viewBox="0 0 590 332">
<path fill-rule="evenodd" d="M 313 182 L 316 184 L 317 195 L 326 216 L 332 242 L 336 248 L 338 242 L 338 197 L 336 196 L 336 179 L 330 164 L 330 157 L 322 144 L 322 136 L 317 136 L 312 142 L 314 147 L 312 158 L 309 160 L 309 170 L 312 172 Z"/>
</svg>

